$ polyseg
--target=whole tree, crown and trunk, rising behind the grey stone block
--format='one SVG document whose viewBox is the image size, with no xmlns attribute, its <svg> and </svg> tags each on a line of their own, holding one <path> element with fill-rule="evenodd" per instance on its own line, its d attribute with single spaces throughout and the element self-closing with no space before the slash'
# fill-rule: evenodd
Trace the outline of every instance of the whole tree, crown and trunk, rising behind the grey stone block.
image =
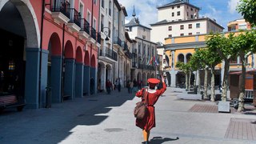
<svg viewBox="0 0 256 144">
<path fill-rule="evenodd" d="M 225 62 L 224 78 L 222 82 L 222 101 L 226 101 L 227 81 L 230 71 L 230 59 L 236 55 L 234 45 L 234 34 L 229 34 L 226 38 L 224 34 L 210 34 L 206 39 L 206 45 L 210 51 L 217 51 L 219 56 Z"/>
</svg>

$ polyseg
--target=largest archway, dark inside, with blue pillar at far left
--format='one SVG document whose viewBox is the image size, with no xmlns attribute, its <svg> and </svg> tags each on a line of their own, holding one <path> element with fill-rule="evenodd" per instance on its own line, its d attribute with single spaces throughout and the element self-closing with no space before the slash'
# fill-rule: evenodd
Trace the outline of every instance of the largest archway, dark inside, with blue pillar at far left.
<svg viewBox="0 0 256 144">
<path fill-rule="evenodd" d="M 0 2 L 0 93 L 26 98 L 27 108 L 38 108 L 41 101 L 36 19 L 30 2 Z"/>
</svg>

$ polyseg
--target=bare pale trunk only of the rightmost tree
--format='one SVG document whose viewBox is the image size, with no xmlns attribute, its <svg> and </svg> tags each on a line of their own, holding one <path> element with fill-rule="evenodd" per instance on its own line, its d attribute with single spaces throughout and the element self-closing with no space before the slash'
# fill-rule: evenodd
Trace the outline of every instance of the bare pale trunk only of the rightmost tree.
<svg viewBox="0 0 256 144">
<path fill-rule="evenodd" d="M 242 61 L 242 75 L 240 77 L 240 86 L 239 86 L 239 98 L 238 98 L 238 112 L 244 110 L 244 96 L 245 96 L 245 83 L 246 83 L 246 58 L 244 54 L 240 56 Z"/>
</svg>

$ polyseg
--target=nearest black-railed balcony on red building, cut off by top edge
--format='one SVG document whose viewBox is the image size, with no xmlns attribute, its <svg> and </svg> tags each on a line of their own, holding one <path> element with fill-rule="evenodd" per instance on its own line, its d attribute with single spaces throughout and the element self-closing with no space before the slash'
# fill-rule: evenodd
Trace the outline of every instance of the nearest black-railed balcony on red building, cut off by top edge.
<svg viewBox="0 0 256 144">
<path fill-rule="evenodd" d="M 70 3 L 65 1 L 54 0 L 51 6 L 51 16 L 54 22 L 67 23 L 70 22 Z"/>
</svg>

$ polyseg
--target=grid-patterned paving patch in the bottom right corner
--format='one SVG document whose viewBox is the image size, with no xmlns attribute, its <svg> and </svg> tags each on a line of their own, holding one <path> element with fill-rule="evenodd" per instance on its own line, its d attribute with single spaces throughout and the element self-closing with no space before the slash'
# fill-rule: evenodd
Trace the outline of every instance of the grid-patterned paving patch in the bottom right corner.
<svg viewBox="0 0 256 144">
<path fill-rule="evenodd" d="M 256 119 L 230 118 L 225 138 L 256 140 Z"/>
</svg>

